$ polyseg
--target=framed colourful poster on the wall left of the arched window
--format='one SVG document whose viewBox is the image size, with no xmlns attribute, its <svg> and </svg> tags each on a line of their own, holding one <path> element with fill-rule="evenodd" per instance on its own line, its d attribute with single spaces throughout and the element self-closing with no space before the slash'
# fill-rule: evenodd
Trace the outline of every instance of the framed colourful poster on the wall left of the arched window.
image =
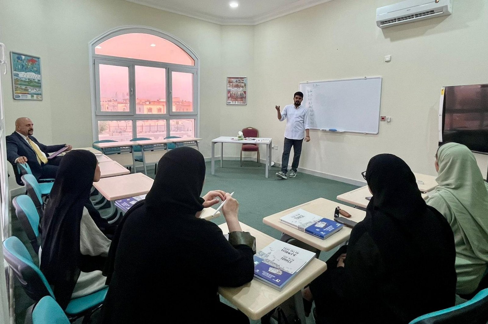
<svg viewBox="0 0 488 324">
<path fill-rule="evenodd" d="M 15 100 L 42 100 L 41 58 L 10 52 Z"/>
</svg>

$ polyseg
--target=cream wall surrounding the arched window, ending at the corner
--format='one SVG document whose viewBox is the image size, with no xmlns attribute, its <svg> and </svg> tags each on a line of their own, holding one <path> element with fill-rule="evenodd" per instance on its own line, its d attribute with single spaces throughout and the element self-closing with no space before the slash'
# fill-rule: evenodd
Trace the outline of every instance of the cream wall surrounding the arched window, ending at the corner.
<svg viewBox="0 0 488 324">
<path fill-rule="evenodd" d="M 15 119 L 27 116 L 34 121 L 34 135 L 43 143 L 91 146 L 88 43 L 118 26 L 144 25 L 179 38 L 198 54 L 200 137 L 209 143 L 220 135 L 221 109 L 225 106 L 220 25 L 123 0 L 32 0 L 28 7 L 26 12 L 18 1 L 2 1 L 0 40 L 9 51 L 41 57 L 44 99 L 14 101 L 12 82 L 4 82 L 7 133 L 14 131 Z M 202 145 L 201 151 L 209 156 L 210 144 Z M 17 187 L 13 177 L 10 187 Z"/>
</svg>

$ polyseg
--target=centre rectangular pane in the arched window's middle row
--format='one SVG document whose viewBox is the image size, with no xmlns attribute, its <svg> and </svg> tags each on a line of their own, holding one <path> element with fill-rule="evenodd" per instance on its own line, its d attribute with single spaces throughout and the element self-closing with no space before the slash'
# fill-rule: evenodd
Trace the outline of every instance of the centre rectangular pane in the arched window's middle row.
<svg viewBox="0 0 488 324">
<path fill-rule="evenodd" d="M 136 113 L 166 114 L 166 69 L 136 65 Z"/>
</svg>

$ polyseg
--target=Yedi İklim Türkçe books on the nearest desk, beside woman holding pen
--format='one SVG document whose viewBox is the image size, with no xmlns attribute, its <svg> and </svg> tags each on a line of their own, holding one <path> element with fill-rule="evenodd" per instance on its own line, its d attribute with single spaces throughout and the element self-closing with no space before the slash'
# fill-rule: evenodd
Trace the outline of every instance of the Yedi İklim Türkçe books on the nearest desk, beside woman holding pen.
<svg viewBox="0 0 488 324">
<path fill-rule="evenodd" d="M 276 240 L 254 255 L 254 278 L 281 290 L 315 256 L 314 252 Z"/>
</svg>

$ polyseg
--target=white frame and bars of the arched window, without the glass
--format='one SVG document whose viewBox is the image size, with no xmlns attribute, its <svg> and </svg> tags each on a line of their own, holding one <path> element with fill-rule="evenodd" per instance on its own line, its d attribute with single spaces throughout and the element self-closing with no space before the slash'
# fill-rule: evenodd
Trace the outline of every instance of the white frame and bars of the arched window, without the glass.
<svg viewBox="0 0 488 324">
<path fill-rule="evenodd" d="M 103 41 L 112 37 L 130 34 L 130 33 L 145 33 L 161 37 L 167 41 L 173 42 L 175 45 L 183 49 L 193 60 L 195 65 L 183 65 L 166 62 L 146 61 L 138 59 L 121 58 L 107 55 L 95 54 L 95 47 Z M 92 98 L 92 126 L 93 126 L 93 141 L 98 141 L 98 121 L 118 121 L 131 120 L 132 121 L 132 135 L 137 135 L 137 121 L 141 120 L 166 120 L 166 136 L 171 135 L 171 120 L 176 119 L 194 119 L 194 135 L 200 135 L 200 60 L 198 56 L 189 48 L 183 41 L 178 40 L 174 36 L 166 34 L 160 30 L 150 27 L 141 26 L 127 26 L 120 27 L 108 31 L 89 43 L 90 54 L 90 83 L 91 83 L 91 98 Z M 129 69 L 129 111 L 109 112 L 101 110 L 100 103 L 100 78 L 99 65 L 118 65 L 127 66 Z M 135 88 L 135 66 L 149 66 L 164 68 L 166 73 L 166 113 L 152 113 L 140 114 L 137 113 L 136 105 L 136 88 Z M 193 74 L 193 111 L 173 112 L 173 97 L 172 97 L 172 72 L 183 72 Z"/>
</svg>

